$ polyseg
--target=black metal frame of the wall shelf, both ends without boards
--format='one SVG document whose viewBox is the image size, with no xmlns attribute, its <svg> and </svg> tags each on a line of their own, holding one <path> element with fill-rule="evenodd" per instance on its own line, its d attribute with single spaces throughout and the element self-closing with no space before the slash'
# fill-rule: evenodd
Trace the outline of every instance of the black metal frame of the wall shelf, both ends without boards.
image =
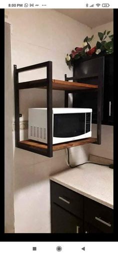
<svg viewBox="0 0 118 256">
<path fill-rule="evenodd" d="M 27 67 L 23 67 L 17 69 L 16 65 L 14 67 L 14 104 L 15 104 L 15 146 L 18 148 L 22 148 L 24 150 L 28 150 L 40 155 L 44 155 L 47 157 L 52 157 L 52 62 L 47 61 Z M 27 82 L 18 82 L 18 74 L 20 72 L 25 72 L 34 69 L 46 68 L 46 78 L 39 79 L 34 81 L 27 81 Z M 95 74 L 96 76 L 96 74 Z M 101 144 L 101 106 L 102 106 L 102 81 L 103 81 L 103 74 L 100 73 L 98 75 L 98 89 L 97 90 L 98 97 L 97 97 L 97 141 L 92 142 L 94 144 Z M 91 74 L 92 77 L 92 74 Z M 73 82 L 77 80 L 77 78 L 73 77 L 66 77 L 65 74 L 65 81 L 73 80 Z M 39 88 L 46 86 L 46 100 L 47 100 L 47 149 L 45 148 L 37 148 L 37 147 L 27 147 L 26 144 L 22 144 L 19 141 L 19 90 L 21 89 L 29 89 L 29 88 Z M 91 89 L 90 89 L 91 90 Z M 78 92 L 79 90 L 75 91 L 65 91 L 64 97 L 64 106 L 68 107 L 68 93 Z"/>
</svg>

